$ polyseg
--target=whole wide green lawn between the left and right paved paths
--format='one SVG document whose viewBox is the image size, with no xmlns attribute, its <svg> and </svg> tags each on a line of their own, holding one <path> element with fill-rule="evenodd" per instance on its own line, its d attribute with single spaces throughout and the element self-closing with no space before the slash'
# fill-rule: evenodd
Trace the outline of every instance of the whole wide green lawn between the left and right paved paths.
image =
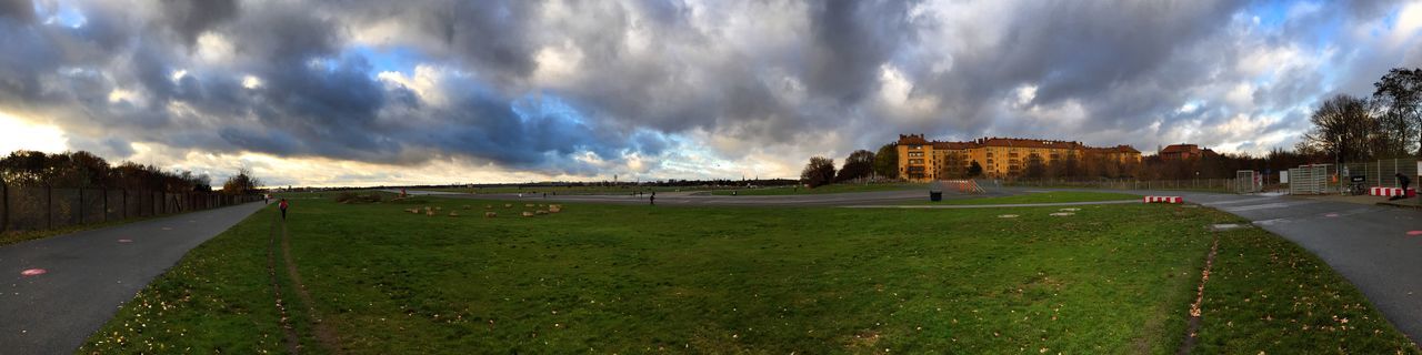
<svg viewBox="0 0 1422 355">
<path fill-rule="evenodd" d="M 499 217 L 444 216 L 483 204 Z M 1318 258 L 1258 229 L 1207 231 L 1237 222 L 1209 209 L 502 204 L 296 200 L 286 227 L 314 302 L 284 301 L 303 352 L 330 352 L 320 318 L 351 354 L 1175 354 L 1217 237 L 1194 352 L 1418 354 Z M 422 206 L 441 216 L 401 212 Z M 189 253 L 80 352 L 286 351 L 273 213 Z"/>
</svg>

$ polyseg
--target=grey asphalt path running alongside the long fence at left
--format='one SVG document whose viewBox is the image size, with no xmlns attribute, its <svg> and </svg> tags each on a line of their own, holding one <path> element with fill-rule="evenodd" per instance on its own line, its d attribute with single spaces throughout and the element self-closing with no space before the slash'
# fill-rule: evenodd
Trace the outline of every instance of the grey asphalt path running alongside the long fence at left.
<svg viewBox="0 0 1422 355">
<path fill-rule="evenodd" d="M 0 354 L 71 354 L 188 250 L 263 203 L 0 247 Z M 44 274 L 23 275 L 41 268 Z"/>
</svg>

